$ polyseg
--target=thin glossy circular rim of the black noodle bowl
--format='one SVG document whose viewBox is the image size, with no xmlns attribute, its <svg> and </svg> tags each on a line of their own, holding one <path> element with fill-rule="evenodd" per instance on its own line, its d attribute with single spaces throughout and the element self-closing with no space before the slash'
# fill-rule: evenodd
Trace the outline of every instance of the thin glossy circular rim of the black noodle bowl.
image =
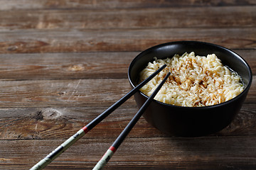
<svg viewBox="0 0 256 170">
<path fill-rule="evenodd" d="M 165 42 L 165 43 L 162 43 L 162 44 L 159 44 L 159 45 L 154 45 L 152 47 L 147 48 L 146 50 L 144 50 L 142 52 L 139 52 L 139 54 L 136 57 L 134 57 L 132 62 L 130 62 L 129 68 L 128 68 L 128 79 L 129 79 L 129 83 L 132 85 L 132 87 L 134 88 L 135 85 L 132 83 L 131 69 L 132 69 L 132 66 L 134 65 L 134 63 L 137 61 L 137 59 L 143 53 L 147 53 L 151 50 L 154 50 L 155 48 L 164 47 L 166 45 L 175 45 L 175 44 L 181 44 L 181 43 L 198 43 L 198 44 L 202 44 L 202 45 L 210 45 L 210 46 L 214 46 L 214 47 L 218 47 L 220 49 L 226 50 L 230 53 L 233 53 L 233 55 L 239 57 L 240 60 L 242 60 L 242 62 L 244 62 L 246 67 L 247 67 L 247 71 L 249 73 L 249 82 L 247 84 L 247 87 L 238 96 L 235 96 L 235 98 L 231 98 L 228 101 L 224 101 L 223 103 L 218 103 L 218 104 L 215 104 L 215 105 L 212 105 L 212 106 L 200 106 L 200 107 L 176 106 L 176 105 L 171 105 L 171 104 L 164 103 L 164 102 L 161 102 L 161 101 L 156 101 L 155 99 L 153 99 L 154 102 L 162 104 L 164 106 L 169 106 L 169 107 L 171 106 L 171 107 L 174 107 L 174 108 L 189 108 L 189 109 L 193 109 L 193 110 L 198 110 L 198 109 L 202 110 L 202 109 L 208 109 L 208 108 L 216 108 L 216 107 L 227 105 L 229 103 L 233 103 L 233 101 L 237 100 L 238 98 L 240 98 L 241 96 L 243 96 L 245 93 L 247 93 L 249 91 L 250 86 L 252 84 L 252 70 L 250 68 L 250 65 L 240 55 L 238 55 L 238 53 L 234 52 L 233 50 L 228 49 L 227 47 L 223 47 L 221 45 L 216 45 L 216 44 L 213 44 L 213 43 L 210 43 L 210 42 L 195 41 L 195 40 L 192 40 L 192 41 L 191 40 L 182 40 L 182 41 Z M 138 91 L 138 92 L 139 92 L 139 94 L 142 94 L 142 96 L 144 96 L 145 98 L 149 98 L 149 96 L 146 96 L 146 94 L 142 93 L 142 91 Z"/>
</svg>

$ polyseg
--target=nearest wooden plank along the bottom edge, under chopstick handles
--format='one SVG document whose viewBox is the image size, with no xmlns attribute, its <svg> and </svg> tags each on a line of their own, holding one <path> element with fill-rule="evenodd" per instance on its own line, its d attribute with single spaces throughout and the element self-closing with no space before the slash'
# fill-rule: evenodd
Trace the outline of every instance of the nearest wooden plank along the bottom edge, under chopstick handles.
<svg viewBox="0 0 256 170">
<path fill-rule="evenodd" d="M 113 140 L 80 139 L 46 169 L 92 169 Z M 28 169 L 63 141 L 1 140 L 0 168 Z M 105 169 L 255 169 L 255 141 L 255 137 L 128 137 Z"/>
</svg>

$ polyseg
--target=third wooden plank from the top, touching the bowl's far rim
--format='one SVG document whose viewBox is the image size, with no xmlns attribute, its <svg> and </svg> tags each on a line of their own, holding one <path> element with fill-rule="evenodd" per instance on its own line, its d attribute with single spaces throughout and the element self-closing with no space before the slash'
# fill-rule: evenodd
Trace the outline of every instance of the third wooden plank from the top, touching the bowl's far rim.
<svg viewBox="0 0 256 170">
<path fill-rule="evenodd" d="M 0 53 L 142 51 L 176 40 L 200 40 L 228 48 L 253 49 L 254 28 L 163 28 L 122 30 L 6 30 Z"/>
</svg>

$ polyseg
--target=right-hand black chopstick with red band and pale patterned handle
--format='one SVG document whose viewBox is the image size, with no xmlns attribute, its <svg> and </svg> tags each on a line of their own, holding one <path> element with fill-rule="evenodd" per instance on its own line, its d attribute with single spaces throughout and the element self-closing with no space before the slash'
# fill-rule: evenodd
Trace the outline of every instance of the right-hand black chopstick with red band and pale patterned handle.
<svg viewBox="0 0 256 170">
<path fill-rule="evenodd" d="M 100 159 L 99 162 L 95 165 L 95 167 L 92 170 L 100 170 L 103 169 L 103 167 L 107 164 L 107 162 L 111 159 L 114 152 L 116 152 L 117 148 L 122 144 L 124 141 L 124 138 L 127 137 L 129 132 L 132 130 L 134 125 L 137 123 L 139 118 L 142 116 L 144 111 L 146 111 L 146 108 L 149 106 L 150 102 L 154 99 L 154 96 L 158 93 L 158 91 L 161 89 L 161 86 L 165 83 L 166 79 L 170 76 L 170 72 L 166 74 L 166 77 L 161 81 L 159 86 L 156 87 L 153 94 L 146 100 L 146 102 L 143 104 L 143 106 L 139 109 L 139 111 L 134 115 L 134 118 L 128 123 L 128 125 L 124 128 L 124 130 L 121 132 L 121 134 L 117 137 L 117 139 L 114 141 L 114 143 L 111 145 L 109 149 L 107 149 L 107 152 L 103 155 L 103 157 Z"/>
</svg>

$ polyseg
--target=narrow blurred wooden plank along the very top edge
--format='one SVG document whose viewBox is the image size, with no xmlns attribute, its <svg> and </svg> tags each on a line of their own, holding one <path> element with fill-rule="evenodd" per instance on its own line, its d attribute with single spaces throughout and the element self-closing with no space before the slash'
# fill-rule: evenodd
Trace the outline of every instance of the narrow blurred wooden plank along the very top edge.
<svg viewBox="0 0 256 170">
<path fill-rule="evenodd" d="M 80 0 L 57 0 L 57 1 L 33 1 L 33 0 L 1 0 L 0 10 L 15 10 L 15 9 L 66 9 L 66 8 L 151 8 L 151 7 L 181 7 L 181 6 L 254 6 L 254 0 L 235 1 L 235 0 L 222 0 L 222 1 L 200 1 L 200 0 L 97 0 L 97 1 L 80 1 Z"/>
</svg>

